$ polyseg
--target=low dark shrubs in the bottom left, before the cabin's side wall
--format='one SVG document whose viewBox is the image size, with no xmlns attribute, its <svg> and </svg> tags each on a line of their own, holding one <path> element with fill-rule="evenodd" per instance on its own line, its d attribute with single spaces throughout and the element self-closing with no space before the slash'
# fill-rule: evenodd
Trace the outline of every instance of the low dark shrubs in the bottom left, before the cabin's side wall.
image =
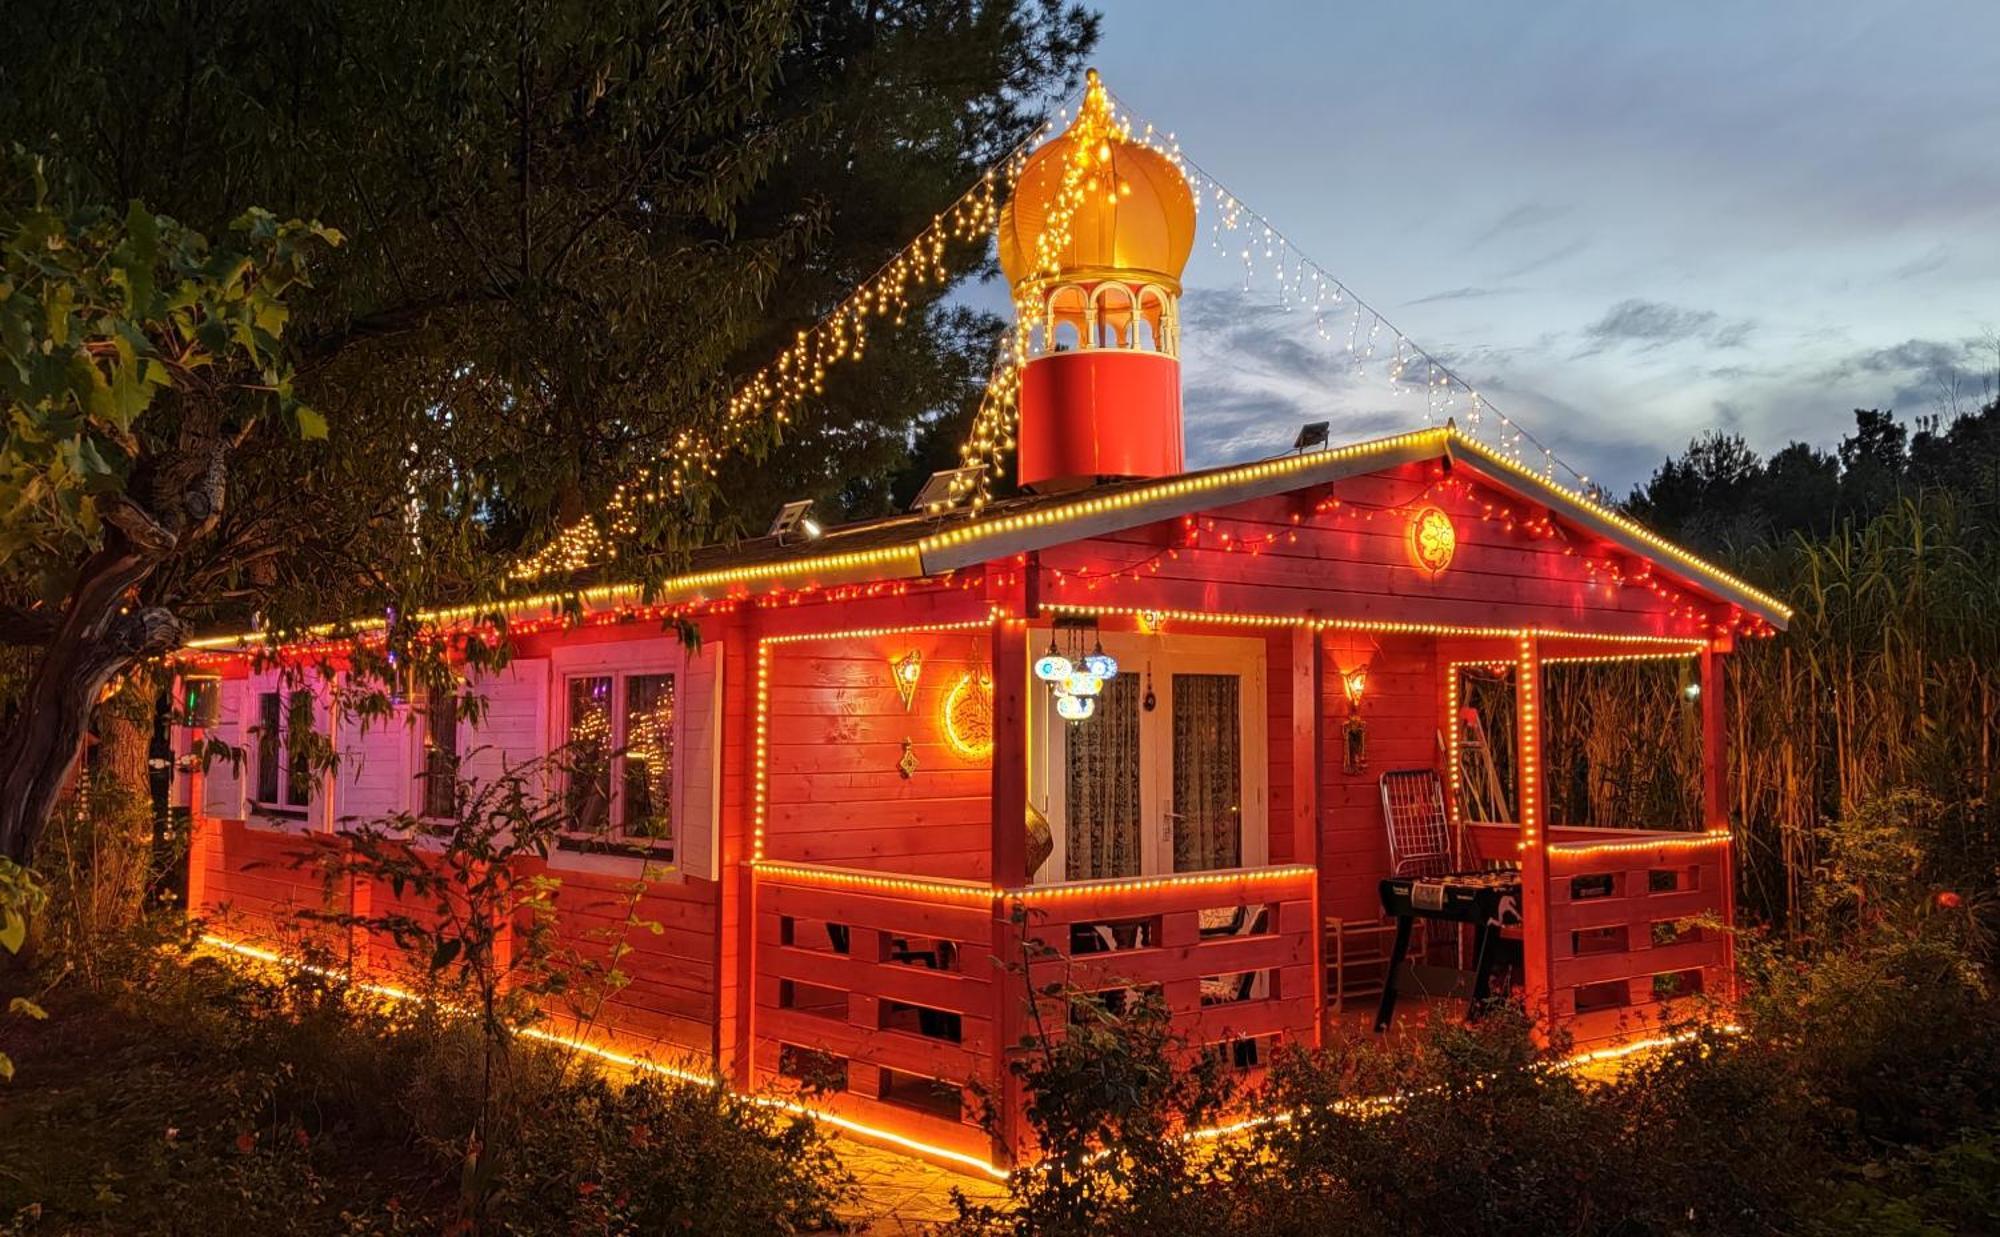
<svg viewBox="0 0 2000 1237">
<path fill-rule="evenodd" d="M 844 1183 L 804 1119 L 692 1083 L 614 1081 L 532 1041 L 492 1089 L 490 1179 L 464 1181 L 476 1017 L 382 1005 L 310 971 L 156 955 L 8 1043 L 0 1231 L 784 1233 Z"/>
</svg>

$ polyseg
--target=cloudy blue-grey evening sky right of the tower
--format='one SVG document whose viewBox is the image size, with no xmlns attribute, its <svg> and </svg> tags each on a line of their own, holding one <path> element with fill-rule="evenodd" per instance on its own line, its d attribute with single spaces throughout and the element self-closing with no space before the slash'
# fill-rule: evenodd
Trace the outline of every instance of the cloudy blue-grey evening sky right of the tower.
<svg viewBox="0 0 2000 1237">
<path fill-rule="evenodd" d="M 1994 372 L 2000 0 L 1098 8 L 1122 106 L 1612 492 L 1710 428 L 1832 446 Z M 1386 340 L 1350 364 L 1214 218 L 1190 464 L 1422 422 Z"/>
</svg>

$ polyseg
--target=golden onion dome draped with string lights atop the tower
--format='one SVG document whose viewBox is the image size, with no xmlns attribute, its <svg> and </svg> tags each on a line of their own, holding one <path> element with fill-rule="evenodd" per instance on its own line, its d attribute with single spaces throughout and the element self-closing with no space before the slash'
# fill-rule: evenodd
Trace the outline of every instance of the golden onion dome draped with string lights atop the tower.
<svg viewBox="0 0 2000 1237">
<path fill-rule="evenodd" d="M 1036 246 L 1050 218 L 1060 218 L 1064 182 L 1080 200 L 1060 212 L 1070 220 L 1068 242 L 1050 254 L 1056 270 L 1048 270 Z M 1104 82 L 1090 70 L 1076 120 L 1028 156 L 1000 210 L 1000 270 L 1016 288 L 1034 276 L 1120 274 L 1152 276 L 1178 292 L 1192 250 L 1186 176 L 1112 120 Z"/>
</svg>

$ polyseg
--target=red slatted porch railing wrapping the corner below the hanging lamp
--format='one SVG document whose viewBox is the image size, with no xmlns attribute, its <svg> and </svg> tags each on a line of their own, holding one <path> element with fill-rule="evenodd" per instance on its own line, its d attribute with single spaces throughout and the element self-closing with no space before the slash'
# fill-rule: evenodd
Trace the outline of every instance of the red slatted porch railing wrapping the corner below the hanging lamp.
<svg viewBox="0 0 2000 1237">
<path fill-rule="evenodd" d="M 754 1077 L 986 1155 L 974 1089 L 1008 1095 L 1016 1035 L 1062 1037 L 1060 997 L 1026 1011 L 1030 983 L 1064 981 L 1114 999 L 1158 989 L 1192 1047 L 1262 1065 L 1276 1039 L 1316 1031 L 1312 885 L 1310 867 L 992 889 L 760 865 Z M 1000 1125 L 1002 1153 L 1022 1151 L 1018 1125 Z"/>
</svg>

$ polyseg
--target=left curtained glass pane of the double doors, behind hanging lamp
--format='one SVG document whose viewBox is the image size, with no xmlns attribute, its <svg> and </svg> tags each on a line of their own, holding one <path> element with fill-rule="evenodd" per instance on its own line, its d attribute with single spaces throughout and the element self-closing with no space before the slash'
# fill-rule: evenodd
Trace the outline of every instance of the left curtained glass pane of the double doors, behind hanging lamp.
<svg viewBox="0 0 2000 1237">
<path fill-rule="evenodd" d="M 1064 875 L 1102 881 L 1140 875 L 1140 677 L 1118 675 L 1098 695 L 1096 715 L 1064 725 Z"/>
</svg>

